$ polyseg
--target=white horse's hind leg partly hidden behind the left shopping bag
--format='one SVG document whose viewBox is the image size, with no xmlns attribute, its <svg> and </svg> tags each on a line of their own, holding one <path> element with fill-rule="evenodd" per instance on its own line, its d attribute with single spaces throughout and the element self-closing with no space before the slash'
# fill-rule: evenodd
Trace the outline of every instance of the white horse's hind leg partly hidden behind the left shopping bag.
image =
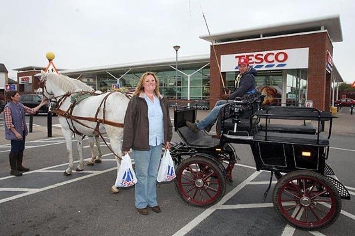
<svg viewBox="0 0 355 236">
<path fill-rule="evenodd" d="M 110 137 L 111 148 L 113 152 L 119 157 L 122 157 L 122 137 L 123 137 L 123 129 L 119 129 L 116 127 L 108 127 L 105 126 L 108 136 Z M 115 156 L 117 163 L 117 170 L 121 166 L 121 159 Z M 113 185 L 110 189 L 111 193 L 117 193 L 119 189 Z"/>
</svg>

